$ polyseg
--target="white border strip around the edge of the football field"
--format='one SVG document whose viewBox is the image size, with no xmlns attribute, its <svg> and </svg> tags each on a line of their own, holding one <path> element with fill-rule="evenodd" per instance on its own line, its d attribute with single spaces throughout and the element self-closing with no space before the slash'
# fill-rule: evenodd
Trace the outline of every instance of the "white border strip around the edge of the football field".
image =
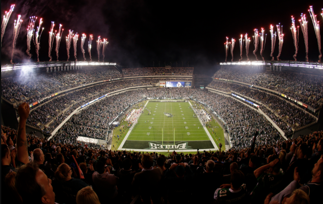
<svg viewBox="0 0 323 204">
<path fill-rule="evenodd" d="M 147 101 L 147 103 L 145 104 L 145 107 L 147 106 L 147 104 L 148 104 L 148 102 L 149 101 Z M 191 102 L 189 101 L 189 104 L 192 106 L 192 104 L 191 104 Z M 144 108 L 145 108 L 144 107 Z M 139 117 L 141 116 L 141 113 L 139 114 Z M 138 118 L 139 118 L 138 117 Z M 203 123 L 202 123 L 202 120 L 200 119 L 200 118 L 198 118 L 199 119 L 199 121 L 200 121 L 200 123 L 201 123 L 201 125 L 202 125 L 202 127 L 203 127 Z M 210 135 L 210 133 L 209 133 L 209 131 L 206 129 L 206 127 L 204 127 L 204 130 L 205 130 L 205 132 L 206 132 L 206 134 L 207 134 L 207 136 L 209 137 L 209 139 L 211 140 L 211 142 L 212 142 L 212 144 L 213 144 L 213 146 L 215 147 L 215 148 L 213 148 L 213 149 L 199 149 L 199 151 L 201 152 L 201 151 L 209 151 L 209 150 L 211 150 L 211 151 L 217 151 L 217 150 L 219 150 L 219 148 L 216 146 L 216 144 L 215 144 L 215 142 L 214 142 L 214 140 L 213 140 L 213 138 L 211 137 L 211 135 Z M 119 146 L 119 148 L 117 149 L 117 150 L 127 150 L 127 149 L 125 149 L 125 148 L 122 148 L 123 147 L 123 145 L 124 145 L 124 143 L 126 142 L 126 140 L 128 139 L 128 137 L 129 137 L 129 135 L 130 135 L 130 133 L 131 133 L 131 131 L 132 131 L 132 129 L 131 130 L 129 130 L 128 132 L 127 132 L 127 134 L 126 134 L 126 136 L 125 136 L 125 138 L 122 140 L 122 142 L 121 142 L 121 144 L 120 144 L 120 146 Z M 141 140 L 140 140 L 141 141 Z M 156 150 L 154 150 L 154 149 L 128 149 L 128 151 L 131 151 L 131 150 L 133 150 L 133 151 L 140 151 L 140 152 L 156 152 Z M 173 150 L 175 150 L 175 151 L 177 151 L 177 152 L 194 152 L 194 151 L 197 151 L 197 149 L 183 149 L 183 150 L 181 150 L 181 149 L 170 149 L 170 152 L 172 152 Z M 161 150 L 161 149 L 158 149 L 157 150 L 157 152 L 168 152 L 168 150 Z"/>
</svg>

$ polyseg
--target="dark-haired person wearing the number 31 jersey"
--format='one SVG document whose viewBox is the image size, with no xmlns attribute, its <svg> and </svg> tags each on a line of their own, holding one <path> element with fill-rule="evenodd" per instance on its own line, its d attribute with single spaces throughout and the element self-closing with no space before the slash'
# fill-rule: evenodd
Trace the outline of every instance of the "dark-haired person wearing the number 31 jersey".
<svg viewBox="0 0 323 204">
<path fill-rule="evenodd" d="M 223 184 L 214 192 L 214 199 L 223 203 L 244 203 L 247 194 L 246 185 L 243 183 L 245 175 L 240 170 L 231 173 L 231 184 Z"/>
</svg>

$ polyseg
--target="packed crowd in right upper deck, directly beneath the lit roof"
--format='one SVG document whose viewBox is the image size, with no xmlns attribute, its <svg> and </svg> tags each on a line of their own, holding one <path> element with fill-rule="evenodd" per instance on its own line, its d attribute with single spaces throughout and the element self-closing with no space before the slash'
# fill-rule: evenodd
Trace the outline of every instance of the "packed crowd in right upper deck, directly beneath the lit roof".
<svg viewBox="0 0 323 204">
<path fill-rule="evenodd" d="M 306 97 L 323 97 L 323 77 L 292 72 L 266 72 L 266 70 L 225 67 L 218 70 L 214 77 L 242 81 L 261 87 L 282 87 Z M 271 85 L 272 84 L 272 85 Z M 270 87 L 269 87 L 270 88 Z"/>
</svg>

